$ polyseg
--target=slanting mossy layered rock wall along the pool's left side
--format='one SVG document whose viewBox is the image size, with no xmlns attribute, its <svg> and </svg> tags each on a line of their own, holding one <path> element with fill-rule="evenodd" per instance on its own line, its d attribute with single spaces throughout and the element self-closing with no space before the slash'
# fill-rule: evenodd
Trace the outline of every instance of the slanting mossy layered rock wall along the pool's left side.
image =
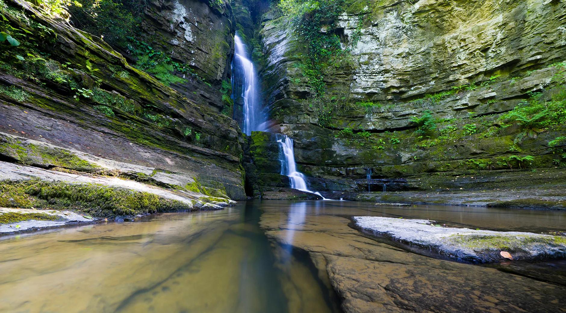
<svg viewBox="0 0 566 313">
<path fill-rule="evenodd" d="M 1 42 L 0 157 L 2 161 L 34 166 L 36 171 L 45 170 L 44 174 L 20 175 L 15 181 L 59 175 L 52 170 L 67 173 L 62 175 L 68 176 L 68 182 L 64 181 L 71 185 L 84 182 L 84 177 L 75 177 L 86 173 L 110 175 L 123 179 L 126 190 L 134 183 L 128 180 L 136 181 L 134 185 L 152 185 L 141 189 L 165 188 L 167 191 L 155 193 L 169 192 L 186 198 L 188 206 L 183 209 L 226 202 L 228 197 L 245 199 L 240 162 L 243 139 L 237 123 L 211 107 L 211 101 L 217 103 L 218 89 L 211 96 L 214 86 L 209 87 L 211 97 L 193 101 L 128 65 L 100 38 L 52 19 L 27 3 L 3 1 L 0 5 L 6 23 L 28 33 L 27 37 L 12 33 L 20 41 L 19 46 Z M 187 26 L 178 21 L 185 28 L 175 26 L 168 40 L 192 38 L 179 40 L 180 50 L 175 53 L 206 73 L 202 74 L 208 75 L 205 82 L 220 82 L 229 72 L 226 66 L 231 52 L 226 42 L 231 41 L 214 42 L 223 47 L 214 53 L 201 51 L 191 56 L 183 52 L 218 39 L 212 33 L 230 36 L 226 16 L 203 5 L 207 6 L 201 2 L 184 3 L 193 18 L 187 18 L 191 16 L 187 13 L 183 23 L 189 19 L 195 24 Z M 174 10 L 174 6 L 170 8 Z M 152 25 L 165 29 L 166 25 L 160 23 L 166 20 L 156 17 Z M 179 35 L 181 29 L 185 31 Z M 228 33 L 218 29 L 228 29 Z M 183 88 L 192 88 L 191 94 L 193 90 L 199 95 L 207 93 L 198 85 Z M 10 175 L 0 178 L 2 192 L 8 195 L 14 179 Z M 99 184 L 95 181 L 87 185 L 95 190 L 102 188 L 93 185 Z M 25 183 L 30 184 L 33 182 Z M 92 192 L 91 196 L 96 194 Z M 38 201 L 49 200 L 42 195 L 37 194 Z M 0 206 L 25 207 L 17 196 L 6 199 Z M 78 199 L 75 201 L 70 207 L 79 204 Z M 143 203 L 138 204 L 143 207 Z M 147 213 L 135 212 L 138 204 L 132 204 L 131 213 Z"/>
</svg>

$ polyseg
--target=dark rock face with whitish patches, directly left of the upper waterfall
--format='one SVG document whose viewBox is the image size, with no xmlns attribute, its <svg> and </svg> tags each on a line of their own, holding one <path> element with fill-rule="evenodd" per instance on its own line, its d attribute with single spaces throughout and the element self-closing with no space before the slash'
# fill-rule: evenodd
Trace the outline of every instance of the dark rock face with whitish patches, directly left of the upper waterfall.
<svg viewBox="0 0 566 313">
<path fill-rule="evenodd" d="M 172 88 L 195 102 L 222 109 L 222 80 L 230 79 L 233 52 L 233 16 L 229 5 L 211 7 L 208 1 L 158 0 L 149 2 L 141 36 L 170 52 L 175 61 L 195 70 L 201 79 Z"/>
</svg>

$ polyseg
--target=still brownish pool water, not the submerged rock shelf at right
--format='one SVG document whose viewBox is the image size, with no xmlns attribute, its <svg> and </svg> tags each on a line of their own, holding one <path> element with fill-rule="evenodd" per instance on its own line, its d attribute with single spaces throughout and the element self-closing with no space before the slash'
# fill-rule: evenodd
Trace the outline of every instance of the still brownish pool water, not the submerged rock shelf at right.
<svg viewBox="0 0 566 313">
<path fill-rule="evenodd" d="M 430 218 L 537 233 L 564 231 L 566 225 L 566 213 L 557 211 L 248 201 L 222 211 L 20 234 L 0 238 L 0 312 L 338 312 L 328 280 L 292 246 L 297 230 L 309 223 L 349 216 Z M 286 243 L 280 245 L 260 223 L 294 226 L 275 227 Z M 332 224 L 324 227 L 332 231 Z M 316 242 L 324 231 L 308 235 Z M 342 248 L 338 240 L 336 245 Z M 560 277 L 564 268 L 556 264 L 541 265 L 544 275 Z"/>
</svg>

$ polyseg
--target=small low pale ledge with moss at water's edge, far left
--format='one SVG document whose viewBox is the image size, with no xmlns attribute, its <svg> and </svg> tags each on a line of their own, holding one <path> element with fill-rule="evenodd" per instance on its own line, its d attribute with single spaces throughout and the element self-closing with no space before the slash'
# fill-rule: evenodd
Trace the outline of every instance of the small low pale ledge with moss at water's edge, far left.
<svg viewBox="0 0 566 313">
<path fill-rule="evenodd" d="M 91 216 L 80 215 L 71 211 L 0 208 L 0 217 L 5 215 L 17 215 L 25 220 L 0 224 L 0 235 L 52 228 L 67 224 L 95 222 L 95 218 Z M 41 216 L 40 219 L 36 219 L 36 215 Z M 46 216 L 50 218 L 46 218 Z"/>
</svg>

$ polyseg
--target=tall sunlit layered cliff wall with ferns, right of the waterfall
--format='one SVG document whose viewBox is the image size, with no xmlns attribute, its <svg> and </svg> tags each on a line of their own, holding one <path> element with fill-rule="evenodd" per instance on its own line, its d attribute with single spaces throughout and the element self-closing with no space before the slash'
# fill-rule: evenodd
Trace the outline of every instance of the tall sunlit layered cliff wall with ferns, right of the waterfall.
<svg viewBox="0 0 566 313">
<path fill-rule="evenodd" d="M 315 190 L 367 190 L 367 168 L 386 184 L 406 178 L 403 188 L 430 190 L 441 184 L 422 184 L 423 176 L 449 181 L 462 173 L 496 177 L 563 166 L 564 142 L 548 144 L 566 134 L 564 125 L 526 126 L 505 113 L 564 92 L 565 6 L 345 1 L 319 31 L 336 34 L 345 52 L 323 64 L 322 105 L 308 74 L 308 42 L 289 17 L 268 12 L 261 74 L 274 130 L 294 138 L 299 167 L 314 177 Z M 341 99 L 346 103 L 328 109 Z M 427 120 L 435 126 L 428 133 Z"/>
</svg>

